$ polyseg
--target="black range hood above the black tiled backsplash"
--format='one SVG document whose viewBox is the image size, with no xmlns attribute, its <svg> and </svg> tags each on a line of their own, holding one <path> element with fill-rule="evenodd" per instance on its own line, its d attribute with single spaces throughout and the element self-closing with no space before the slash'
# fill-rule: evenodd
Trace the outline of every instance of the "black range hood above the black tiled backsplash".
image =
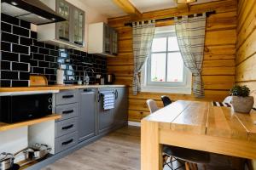
<svg viewBox="0 0 256 170">
<path fill-rule="evenodd" d="M 39 0 L 2 0 L 2 13 L 35 25 L 64 21 L 60 14 Z"/>
</svg>

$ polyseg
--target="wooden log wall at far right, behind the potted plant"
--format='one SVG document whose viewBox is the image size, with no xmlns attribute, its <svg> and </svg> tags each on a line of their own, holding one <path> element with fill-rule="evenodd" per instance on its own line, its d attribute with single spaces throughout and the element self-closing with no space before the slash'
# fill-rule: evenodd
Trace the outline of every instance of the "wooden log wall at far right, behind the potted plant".
<svg viewBox="0 0 256 170">
<path fill-rule="evenodd" d="M 240 0 L 237 11 L 236 83 L 251 88 L 256 107 L 256 1 Z"/>
</svg>

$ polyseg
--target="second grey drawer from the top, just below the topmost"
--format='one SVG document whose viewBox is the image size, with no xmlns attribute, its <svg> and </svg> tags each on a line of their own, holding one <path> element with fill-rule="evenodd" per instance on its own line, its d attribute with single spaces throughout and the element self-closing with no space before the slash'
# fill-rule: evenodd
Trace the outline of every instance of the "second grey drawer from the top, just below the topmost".
<svg viewBox="0 0 256 170">
<path fill-rule="evenodd" d="M 57 105 L 55 107 L 55 113 L 61 114 L 61 119 L 57 121 L 66 120 L 79 115 L 79 105 L 68 104 L 68 105 Z"/>
</svg>

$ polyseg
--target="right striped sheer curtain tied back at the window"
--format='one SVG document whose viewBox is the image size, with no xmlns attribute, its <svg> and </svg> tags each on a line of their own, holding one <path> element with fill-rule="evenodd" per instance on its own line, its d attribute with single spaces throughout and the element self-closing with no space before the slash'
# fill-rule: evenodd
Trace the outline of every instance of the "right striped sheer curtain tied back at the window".
<svg viewBox="0 0 256 170">
<path fill-rule="evenodd" d="M 184 65 L 194 76 L 193 94 L 197 98 L 204 97 L 201 66 L 205 46 L 206 18 L 206 14 L 202 16 L 196 16 L 195 14 L 193 18 L 188 16 L 183 16 L 182 19 L 175 18 L 178 46 Z"/>
</svg>

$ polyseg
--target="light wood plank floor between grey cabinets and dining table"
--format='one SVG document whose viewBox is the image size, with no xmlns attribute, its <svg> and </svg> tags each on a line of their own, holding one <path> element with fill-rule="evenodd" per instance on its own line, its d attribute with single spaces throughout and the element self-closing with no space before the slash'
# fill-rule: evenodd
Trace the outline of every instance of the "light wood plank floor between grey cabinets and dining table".
<svg viewBox="0 0 256 170">
<path fill-rule="evenodd" d="M 207 170 L 230 170 L 230 158 L 212 155 Z M 174 169 L 179 167 L 173 162 Z M 140 128 L 124 127 L 73 154 L 55 161 L 44 170 L 140 170 Z M 184 167 L 178 168 L 183 170 Z M 201 166 L 199 166 L 201 170 Z M 165 167 L 164 170 L 170 170 Z M 240 169 L 239 169 L 240 170 Z"/>
</svg>

